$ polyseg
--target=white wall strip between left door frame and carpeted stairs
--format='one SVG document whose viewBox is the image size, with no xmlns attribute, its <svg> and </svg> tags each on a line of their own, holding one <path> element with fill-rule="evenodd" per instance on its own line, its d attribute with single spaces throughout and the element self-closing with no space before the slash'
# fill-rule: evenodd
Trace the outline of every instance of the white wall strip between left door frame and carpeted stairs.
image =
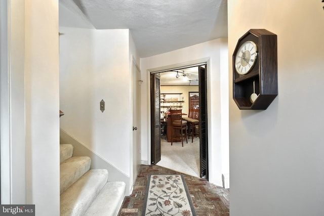
<svg viewBox="0 0 324 216">
<path fill-rule="evenodd" d="M 58 30 L 57 0 L 25 1 L 26 203 L 36 215 L 60 213 Z"/>
</svg>

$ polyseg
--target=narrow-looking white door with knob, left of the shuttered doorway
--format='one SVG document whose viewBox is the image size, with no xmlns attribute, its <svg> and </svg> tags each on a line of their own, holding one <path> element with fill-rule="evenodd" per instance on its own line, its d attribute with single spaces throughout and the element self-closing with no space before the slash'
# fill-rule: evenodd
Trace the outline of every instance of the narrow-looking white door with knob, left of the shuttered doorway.
<svg viewBox="0 0 324 216">
<path fill-rule="evenodd" d="M 133 183 L 141 164 L 140 77 L 140 70 L 133 62 Z"/>
</svg>

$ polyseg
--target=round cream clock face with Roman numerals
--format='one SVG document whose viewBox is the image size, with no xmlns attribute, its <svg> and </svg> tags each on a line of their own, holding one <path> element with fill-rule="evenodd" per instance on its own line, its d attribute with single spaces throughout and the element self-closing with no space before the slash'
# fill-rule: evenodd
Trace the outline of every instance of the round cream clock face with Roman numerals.
<svg viewBox="0 0 324 216">
<path fill-rule="evenodd" d="M 251 71 L 257 59 L 257 45 L 248 40 L 242 44 L 235 55 L 235 70 L 240 75 Z"/>
</svg>

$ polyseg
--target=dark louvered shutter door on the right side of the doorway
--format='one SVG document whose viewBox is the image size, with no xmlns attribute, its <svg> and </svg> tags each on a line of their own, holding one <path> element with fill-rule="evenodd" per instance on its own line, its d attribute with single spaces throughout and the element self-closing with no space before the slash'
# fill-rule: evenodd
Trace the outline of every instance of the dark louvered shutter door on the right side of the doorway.
<svg viewBox="0 0 324 216">
<path fill-rule="evenodd" d="M 206 68 L 206 65 L 205 65 Z M 198 67 L 199 75 L 199 139 L 200 177 L 208 180 L 208 134 L 207 134 L 207 72 Z"/>
</svg>

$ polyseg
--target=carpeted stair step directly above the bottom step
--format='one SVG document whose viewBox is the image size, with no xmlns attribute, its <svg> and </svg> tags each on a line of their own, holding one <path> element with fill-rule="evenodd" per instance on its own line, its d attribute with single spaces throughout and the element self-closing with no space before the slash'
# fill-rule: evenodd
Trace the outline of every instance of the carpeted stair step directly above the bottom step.
<svg viewBox="0 0 324 216">
<path fill-rule="evenodd" d="M 90 169 L 60 196 L 60 215 L 84 215 L 107 183 L 108 170 Z M 115 199 L 115 197 L 111 197 Z M 108 200 L 105 200 L 105 203 Z M 117 214 L 115 214 L 117 215 Z"/>
</svg>

